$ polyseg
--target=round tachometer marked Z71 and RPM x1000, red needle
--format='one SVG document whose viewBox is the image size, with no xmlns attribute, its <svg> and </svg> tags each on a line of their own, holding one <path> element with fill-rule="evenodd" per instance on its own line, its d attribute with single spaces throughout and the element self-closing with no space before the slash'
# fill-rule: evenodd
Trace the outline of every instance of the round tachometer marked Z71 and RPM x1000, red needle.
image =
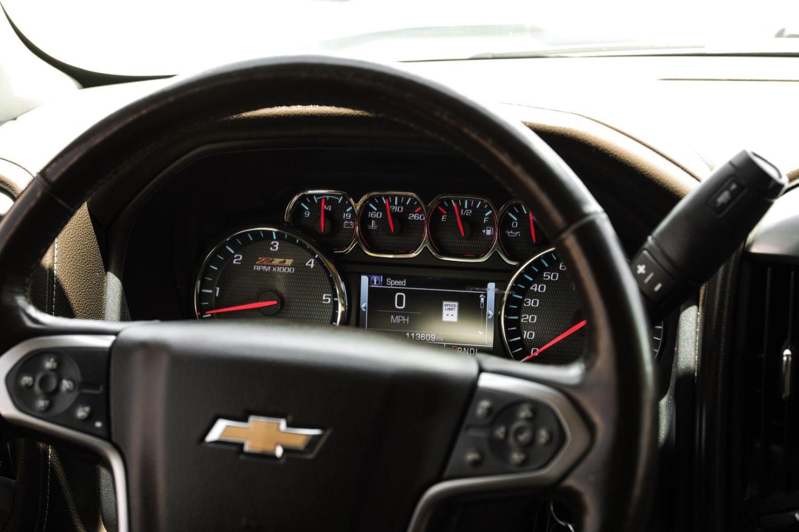
<svg viewBox="0 0 799 532">
<path fill-rule="evenodd" d="M 197 317 L 278 317 L 338 325 L 344 286 L 332 263 L 296 234 L 273 227 L 225 238 L 197 277 Z"/>
</svg>

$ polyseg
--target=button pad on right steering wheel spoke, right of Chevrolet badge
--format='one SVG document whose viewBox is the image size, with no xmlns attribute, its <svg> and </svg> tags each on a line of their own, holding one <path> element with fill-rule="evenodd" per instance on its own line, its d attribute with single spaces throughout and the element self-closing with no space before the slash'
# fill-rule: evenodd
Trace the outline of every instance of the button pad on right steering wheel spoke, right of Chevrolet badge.
<svg viewBox="0 0 799 532">
<path fill-rule="evenodd" d="M 546 402 L 479 390 L 445 477 L 536 471 L 555 457 L 565 438 L 557 414 Z"/>
</svg>

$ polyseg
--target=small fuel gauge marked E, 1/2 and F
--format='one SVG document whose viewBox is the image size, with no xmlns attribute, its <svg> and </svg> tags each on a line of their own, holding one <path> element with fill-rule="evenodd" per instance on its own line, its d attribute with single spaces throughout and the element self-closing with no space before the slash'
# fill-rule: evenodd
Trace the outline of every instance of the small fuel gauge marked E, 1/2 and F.
<svg viewBox="0 0 799 532">
<path fill-rule="evenodd" d="M 480 261 L 494 249 L 497 217 L 485 198 L 439 196 L 433 200 L 429 223 L 436 257 Z"/>
</svg>

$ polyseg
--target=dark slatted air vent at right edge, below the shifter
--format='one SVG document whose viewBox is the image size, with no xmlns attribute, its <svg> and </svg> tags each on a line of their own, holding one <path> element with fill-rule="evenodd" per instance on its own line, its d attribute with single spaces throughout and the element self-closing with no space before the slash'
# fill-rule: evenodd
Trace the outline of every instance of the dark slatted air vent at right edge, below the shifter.
<svg viewBox="0 0 799 532">
<path fill-rule="evenodd" d="M 744 495 L 756 529 L 799 530 L 799 267 L 750 267 L 739 309 Z"/>
</svg>

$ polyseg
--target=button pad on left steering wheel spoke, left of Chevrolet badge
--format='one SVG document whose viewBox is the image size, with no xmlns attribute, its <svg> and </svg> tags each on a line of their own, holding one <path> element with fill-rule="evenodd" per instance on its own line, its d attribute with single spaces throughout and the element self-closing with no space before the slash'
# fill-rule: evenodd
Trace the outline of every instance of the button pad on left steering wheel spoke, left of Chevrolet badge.
<svg viewBox="0 0 799 532">
<path fill-rule="evenodd" d="M 107 438 L 107 376 L 105 349 L 41 349 L 14 365 L 6 388 L 30 416 Z"/>
</svg>

